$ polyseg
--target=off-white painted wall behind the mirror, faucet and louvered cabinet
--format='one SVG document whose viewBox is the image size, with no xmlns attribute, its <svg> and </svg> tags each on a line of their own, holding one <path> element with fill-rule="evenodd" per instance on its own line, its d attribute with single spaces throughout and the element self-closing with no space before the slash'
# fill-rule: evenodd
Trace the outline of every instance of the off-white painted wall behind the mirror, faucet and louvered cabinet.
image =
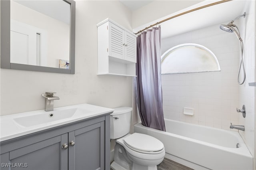
<svg viewBox="0 0 256 170">
<path fill-rule="evenodd" d="M 117 15 L 118 14 L 118 15 Z M 76 1 L 74 75 L 1 69 L 1 115 L 44 109 L 45 91 L 57 92 L 54 107 L 90 103 L 132 106 L 132 77 L 97 76 L 96 24 L 111 18 L 132 28 L 132 13 L 118 1 Z"/>
</svg>

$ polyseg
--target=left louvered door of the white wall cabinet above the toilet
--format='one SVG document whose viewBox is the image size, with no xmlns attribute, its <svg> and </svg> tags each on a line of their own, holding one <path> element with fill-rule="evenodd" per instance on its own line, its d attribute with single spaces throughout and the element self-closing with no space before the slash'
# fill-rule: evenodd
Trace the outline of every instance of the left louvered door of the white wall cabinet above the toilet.
<svg viewBox="0 0 256 170">
<path fill-rule="evenodd" d="M 124 59 L 124 30 L 110 22 L 109 56 Z"/>
</svg>

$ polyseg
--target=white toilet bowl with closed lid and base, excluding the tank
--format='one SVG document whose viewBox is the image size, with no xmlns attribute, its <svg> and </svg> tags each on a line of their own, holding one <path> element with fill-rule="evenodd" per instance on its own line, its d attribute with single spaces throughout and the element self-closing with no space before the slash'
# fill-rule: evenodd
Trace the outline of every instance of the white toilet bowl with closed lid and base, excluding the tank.
<svg viewBox="0 0 256 170">
<path fill-rule="evenodd" d="M 114 162 L 111 168 L 113 170 L 157 170 L 156 165 L 162 162 L 164 155 L 164 144 L 160 140 L 147 134 L 126 134 L 116 140 Z"/>
</svg>

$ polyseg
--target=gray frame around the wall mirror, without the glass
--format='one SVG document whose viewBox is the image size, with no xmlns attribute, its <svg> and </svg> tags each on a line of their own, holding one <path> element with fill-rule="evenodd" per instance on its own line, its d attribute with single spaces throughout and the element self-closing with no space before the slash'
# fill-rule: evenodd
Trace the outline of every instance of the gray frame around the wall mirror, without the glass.
<svg viewBox="0 0 256 170">
<path fill-rule="evenodd" d="M 76 2 L 74 0 L 63 0 L 70 4 L 70 69 L 54 67 L 43 67 L 37 65 L 17 64 L 10 62 L 10 0 L 0 1 L 1 14 L 1 68 L 18 69 L 28 71 L 43 71 L 52 73 L 75 73 L 75 25 L 76 25 Z"/>
</svg>

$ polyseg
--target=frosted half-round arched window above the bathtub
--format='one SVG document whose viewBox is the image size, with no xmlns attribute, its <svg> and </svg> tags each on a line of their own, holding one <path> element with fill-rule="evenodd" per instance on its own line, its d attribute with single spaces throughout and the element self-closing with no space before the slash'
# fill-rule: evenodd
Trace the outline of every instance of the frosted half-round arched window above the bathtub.
<svg viewBox="0 0 256 170">
<path fill-rule="evenodd" d="M 220 71 L 218 59 L 210 49 L 196 43 L 184 43 L 161 56 L 162 74 Z"/>
</svg>

